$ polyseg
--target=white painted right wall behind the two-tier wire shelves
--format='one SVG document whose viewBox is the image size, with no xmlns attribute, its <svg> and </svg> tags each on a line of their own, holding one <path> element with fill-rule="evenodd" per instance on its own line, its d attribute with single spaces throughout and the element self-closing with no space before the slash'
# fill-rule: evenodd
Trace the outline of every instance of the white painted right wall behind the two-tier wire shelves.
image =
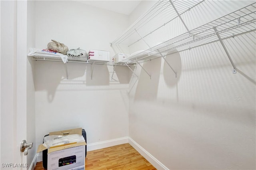
<svg viewBox="0 0 256 170">
<path fill-rule="evenodd" d="M 250 3 L 206 1 L 184 21 L 193 29 Z M 138 6 L 134 14 L 143 10 Z M 170 37 L 182 26 L 172 27 Z M 129 137 L 168 169 L 256 168 L 255 32 L 224 43 L 236 74 L 216 42 L 168 55 L 177 78 L 160 58 L 143 64 L 151 79 L 140 67 L 140 78 L 132 76 Z"/>
</svg>

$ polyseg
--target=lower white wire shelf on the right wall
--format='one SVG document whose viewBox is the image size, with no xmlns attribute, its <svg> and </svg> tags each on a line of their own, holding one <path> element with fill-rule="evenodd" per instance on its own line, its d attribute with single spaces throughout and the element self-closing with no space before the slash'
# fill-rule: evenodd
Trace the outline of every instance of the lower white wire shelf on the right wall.
<svg viewBox="0 0 256 170">
<path fill-rule="evenodd" d="M 132 62 L 139 60 L 148 61 L 166 55 L 166 53 L 169 55 L 217 42 L 220 39 L 216 34 L 219 34 L 220 38 L 224 40 L 252 31 L 256 31 L 256 2 L 136 55 L 130 56 L 123 62 L 129 63 L 131 60 Z"/>
</svg>

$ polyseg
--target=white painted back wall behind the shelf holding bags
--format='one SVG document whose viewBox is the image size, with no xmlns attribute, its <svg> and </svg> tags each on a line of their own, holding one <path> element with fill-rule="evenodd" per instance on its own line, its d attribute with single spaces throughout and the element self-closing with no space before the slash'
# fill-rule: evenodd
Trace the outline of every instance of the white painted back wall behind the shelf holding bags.
<svg viewBox="0 0 256 170">
<path fill-rule="evenodd" d="M 70 49 L 99 49 L 128 26 L 128 16 L 76 1 L 36 1 L 36 47 L 51 39 Z M 87 144 L 128 136 L 130 70 L 112 65 L 36 61 L 34 72 L 36 147 L 51 131 L 82 127 Z M 92 79 L 91 79 L 92 78 Z"/>
</svg>

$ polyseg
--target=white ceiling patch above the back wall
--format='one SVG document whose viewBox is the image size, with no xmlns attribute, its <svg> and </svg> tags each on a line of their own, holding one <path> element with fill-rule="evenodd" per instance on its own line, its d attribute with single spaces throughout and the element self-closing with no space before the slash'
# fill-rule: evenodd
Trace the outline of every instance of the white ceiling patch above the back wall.
<svg viewBox="0 0 256 170">
<path fill-rule="evenodd" d="M 140 4 L 141 0 L 78 0 L 78 2 L 112 12 L 130 15 L 138 4 Z"/>
</svg>

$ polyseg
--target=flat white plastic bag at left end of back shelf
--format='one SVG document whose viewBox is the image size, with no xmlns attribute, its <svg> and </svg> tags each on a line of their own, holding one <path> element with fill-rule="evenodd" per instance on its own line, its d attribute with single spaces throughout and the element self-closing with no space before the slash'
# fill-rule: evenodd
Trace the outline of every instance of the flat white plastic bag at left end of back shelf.
<svg viewBox="0 0 256 170">
<path fill-rule="evenodd" d="M 58 53 L 56 51 L 51 51 L 48 49 L 36 49 L 30 48 L 28 56 L 34 57 L 60 57 L 64 63 L 68 61 L 68 57 L 62 53 Z"/>
</svg>

